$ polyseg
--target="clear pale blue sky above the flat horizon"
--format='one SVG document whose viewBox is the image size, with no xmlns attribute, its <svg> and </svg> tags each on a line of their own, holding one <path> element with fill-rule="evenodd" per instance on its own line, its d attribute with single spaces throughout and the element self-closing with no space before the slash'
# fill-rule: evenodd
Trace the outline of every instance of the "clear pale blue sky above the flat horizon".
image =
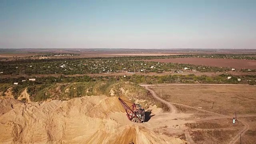
<svg viewBox="0 0 256 144">
<path fill-rule="evenodd" d="M 0 48 L 256 49 L 256 0 L 0 0 Z"/>
</svg>

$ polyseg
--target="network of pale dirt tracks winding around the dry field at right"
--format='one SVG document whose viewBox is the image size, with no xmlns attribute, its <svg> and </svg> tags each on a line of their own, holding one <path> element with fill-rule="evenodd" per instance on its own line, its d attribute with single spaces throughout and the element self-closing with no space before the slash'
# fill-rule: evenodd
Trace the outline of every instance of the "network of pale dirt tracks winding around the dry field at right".
<svg viewBox="0 0 256 144">
<path fill-rule="evenodd" d="M 167 104 L 171 108 L 172 113 L 176 113 L 176 108 L 173 104 L 181 105 L 181 106 L 186 106 L 186 105 L 167 102 L 166 100 L 163 100 L 162 98 L 158 97 L 153 90 L 148 88 L 149 86 L 164 86 L 164 85 L 180 85 L 180 84 L 152 84 L 152 85 L 150 85 L 150 84 L 140 84 L 140 86 L 144 86 L 147 90 L 149 90 L 154 98 L 156 98 L 157 100 L 160 100 L 161 102 L 164 102 L 165 104 Z M 181 84 L 181 85 L 191 85 L 191 84 Z M 230 86 L 230 85 L 233 85 L 233 84 L 196 84 L 196 85 L 224 85 L 224 86 Z M 218 116 L 203 118 L 203 119 L 207 119 L 207 120 L 213 120 L 213 119 L 218 119 L 218 118 L 232 118 L 233 117 L 233 116 L 226 116 L 226 115 L 223 115 L 223 114 L 218 114 L 218 113 L 215 113 L 215 112 L 210 112 L 210 111 L 207 111 L 207 110 L 202 110 L 200 108 L 194 108 L 192 106 L 186 106 L 186 107 L 218 115 Z M 256 114 L 244 114 L 244 115 L 239 115 L 239 116 L 240 117 L 250 117 L 250 116 L 256 116 Z M 203 120 L 203 119 L 201 119 L 201 120 Z M 236 136 L 234 136 L 228 144 L 236 144 L 236 142 L 240 139 L 240 134 L 243 135 L 250 128 L 250 126 L 246 122 L 244 122 L 242 120 L 239 120 L 239 121 L 242 122 L 242 124 L 244 124 L 244 128 L 242 130 L 240 130 L 238 132 L 238 134 Z M 189 136 L 189 133 L 186 133 L 186 137 L 189 138 L 188 140 L 191 144 L 194 144 L 194 142 L 192 141 L 192 139 Z"/>
</svg>

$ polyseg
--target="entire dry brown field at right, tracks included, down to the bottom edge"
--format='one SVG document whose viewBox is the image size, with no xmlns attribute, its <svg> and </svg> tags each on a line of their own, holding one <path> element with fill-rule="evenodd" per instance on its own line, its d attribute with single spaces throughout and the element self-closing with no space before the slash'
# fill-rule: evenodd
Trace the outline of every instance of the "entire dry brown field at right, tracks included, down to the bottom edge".
<svg viewBox="0 0 256 144">
<path fill-rule="evenodd" d="M 193 114 L 185 123 L 194 144 L 255 144 L 256 87 L 249 85 L 153 85 L 179 113 Z M 213 108 L 212 108 L 212 102 Z M 180 105 L 182 104 L 182 105 Z M 236 124 L 232 118 L 237 112 Z M 248 129 L 247 129 L 248 128 Z M 189 139 L 188 139 L 189 140 Z M 237 140 L 237 141 L 230 141 Z M 234 143 L 236 142 L 236 143 Z"/>
</svg>

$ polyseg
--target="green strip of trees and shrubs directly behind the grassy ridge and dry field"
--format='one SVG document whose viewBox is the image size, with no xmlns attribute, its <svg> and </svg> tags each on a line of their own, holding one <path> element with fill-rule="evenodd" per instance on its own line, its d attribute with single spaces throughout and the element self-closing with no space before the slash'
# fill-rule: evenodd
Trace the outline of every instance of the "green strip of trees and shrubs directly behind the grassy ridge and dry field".
<svg viewBox="0 0 256 144">
<path fill-rule="evenodd" d="M 231 77 L 228 79 L 228 77 Z M 36 77 L 31 77 L 36 78 Z M 240 79 L 240 81 L 238 80 Z M 26 80 L 22 82 L 22 80 Z M 160 84 L 160 83 L 204 83 L 204 84 L 248 84 L 249 82 L 256 81 L 256 75 L 243 75 L 233 76 L 230 74 L 220 74 L 217 76 L 196 76 L 194 74 L 181 75 L 163 75 L 163 76 L 147 76 L 147 75 L 132 75 L 132 76 L 59 76 L 59 77 L 37 77 L 36 81 L 29 81 L 28 78 L 4 78 L 0 79 L 0 84 L 13 85 L 14 82 L 18 82 L 18 85 L 37 85 L 37 84 L 56 84 L 56 83 L 68 83 L 68 82 L 120 82 L 130 81 L 137 84 Z"/>
</svg>

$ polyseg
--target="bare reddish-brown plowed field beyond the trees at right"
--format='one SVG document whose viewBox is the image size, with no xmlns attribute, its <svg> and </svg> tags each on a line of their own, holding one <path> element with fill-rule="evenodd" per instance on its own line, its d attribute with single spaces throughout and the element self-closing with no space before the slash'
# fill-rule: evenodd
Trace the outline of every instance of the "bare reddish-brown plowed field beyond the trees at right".
<svg viewBox="0 0 256 144">
<path fill-rule="evenodd" d="M 230 67 L 230 68 L 248 68 L 256 69 L 256 60 L 232 60 L 221 58 L 166 58 L 166 59 L 153 59 L 144 60 L 150 62 L 172 62 L 182 64 L 196 64 L 203 66 L 217 66 L 217 67 Z"/>
</svg>

